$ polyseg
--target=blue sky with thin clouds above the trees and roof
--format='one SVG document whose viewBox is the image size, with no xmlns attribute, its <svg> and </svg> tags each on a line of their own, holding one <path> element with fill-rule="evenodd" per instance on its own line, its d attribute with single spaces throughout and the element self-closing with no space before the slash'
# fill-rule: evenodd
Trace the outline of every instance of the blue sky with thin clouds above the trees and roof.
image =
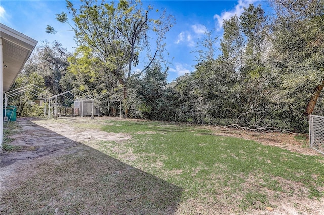
<svg viewBox="0 0 324 215">
<path fill-rule="evenodd" d="M 71 2 L 77 3 L 77 1 Z M 239 16 L 243 7 L 247 7 L 249 4 L 266 4 L 259 0 L 142 2 L 144 5 L 151 4 L 160 11 L 166 9 L 167 13 L 176 19 L 176 25 L 167 33 L 165 40 L 170 58 L 174 57 L 172 64 L 169 65 L 168 81 L 175 80 L 178 76 L 194 70 L 193 66 L 197 62 L 195 54 L 191 52 L 196 49 L 197 41 L 203 37 L 206 29 L 216 29 L 214 36 L 220 38 L 223 19 L 228 19 L 235 14 Z M 73 47 L 75 47 L 73 32 L 58 32 L 54 35 L 45 32 L 47 25 L 58 30 L 69 30 L 69 26 L 63 25 L 55 19 L 55 14 L 62 11 L 67 12 L 66 2 L 63 0 L 1 0 L 0 22 L 37 40 L 38 45 L 42 45 L 42 41 L 45 40 L 48 42 L 57 40 L 69 52 L 73 52 Z M 218 47 L 219 43 L 215 46 Z"/>
</svg>

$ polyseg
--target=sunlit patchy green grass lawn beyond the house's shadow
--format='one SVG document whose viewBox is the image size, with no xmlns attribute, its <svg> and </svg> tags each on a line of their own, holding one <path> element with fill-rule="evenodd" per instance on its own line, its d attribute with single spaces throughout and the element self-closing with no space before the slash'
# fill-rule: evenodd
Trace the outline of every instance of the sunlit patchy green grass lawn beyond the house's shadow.
<svg viewBox="0 0 324 215">
<path fill-rule="evenodd" d="M 99 150 L 181 187 L 183 201 L 233 207 L 276 207 L 282 196 L 324 195 L 324 158 L 255 141 L 220 137 L 193 126 L 109 121 L 107 132 L 129 133 L 125 143 L 100 142 Z M 131 158 L 131 159 L 129 159 Z"/>
</svg>

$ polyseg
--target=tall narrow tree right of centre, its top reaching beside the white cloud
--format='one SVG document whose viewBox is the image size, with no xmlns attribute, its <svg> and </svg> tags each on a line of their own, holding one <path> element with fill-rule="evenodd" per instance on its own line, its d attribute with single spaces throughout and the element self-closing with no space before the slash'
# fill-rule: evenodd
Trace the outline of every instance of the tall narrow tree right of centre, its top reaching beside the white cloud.
<svg viewBox="0 0 324 215">
<path fill-rule="evenodd" d="M 244 12 L 239 17 L 241 31 L 246 38 L 244 49 L 244 67 L 240 70 L 241 82 L 238 83 L 241 90 L 241 103 L 246 106 L 245 112 L 258 110 L 260 113 L 252 114 L 254 121 L 264 118 L 263 113 L 269 104 L 268 87 L 271 74 L 267 68 L 266 49 L 267 43 L 267 16 L 261 5 L 250 4 L 244 8 Z M 253 112 L 252 112 L 253 113 Z M 259 118 L 259 119 L 258 119 Z M 252 119 L 251 119 L 252 120 Z"/>
</svg>

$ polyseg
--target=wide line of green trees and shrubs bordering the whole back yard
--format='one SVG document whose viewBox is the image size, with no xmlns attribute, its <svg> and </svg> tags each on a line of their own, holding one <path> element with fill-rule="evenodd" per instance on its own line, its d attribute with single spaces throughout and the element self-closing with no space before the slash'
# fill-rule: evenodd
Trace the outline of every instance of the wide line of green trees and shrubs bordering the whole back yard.
<svg viewBox="0 0 324 215">
<path fill-rule="evenodd" d="M 65 12 L 57 20 L 75 31 L 75 52 L 44 42 L 12 89 L 32 83 L 53 94 L 111 92 L 133 118 L 306 132 L 307 116 L 324 114 L 324 0 L 270 4 L 272 14 L 251 4 L 224 20 L 221 38 L 205 32 L 194 71 L 168 83 L 164 39 L 173 16 L 137 0 L 67 1 L 73 22 Z M 137 65 L 143 70 L 134 72 Z"/>
</svg>

